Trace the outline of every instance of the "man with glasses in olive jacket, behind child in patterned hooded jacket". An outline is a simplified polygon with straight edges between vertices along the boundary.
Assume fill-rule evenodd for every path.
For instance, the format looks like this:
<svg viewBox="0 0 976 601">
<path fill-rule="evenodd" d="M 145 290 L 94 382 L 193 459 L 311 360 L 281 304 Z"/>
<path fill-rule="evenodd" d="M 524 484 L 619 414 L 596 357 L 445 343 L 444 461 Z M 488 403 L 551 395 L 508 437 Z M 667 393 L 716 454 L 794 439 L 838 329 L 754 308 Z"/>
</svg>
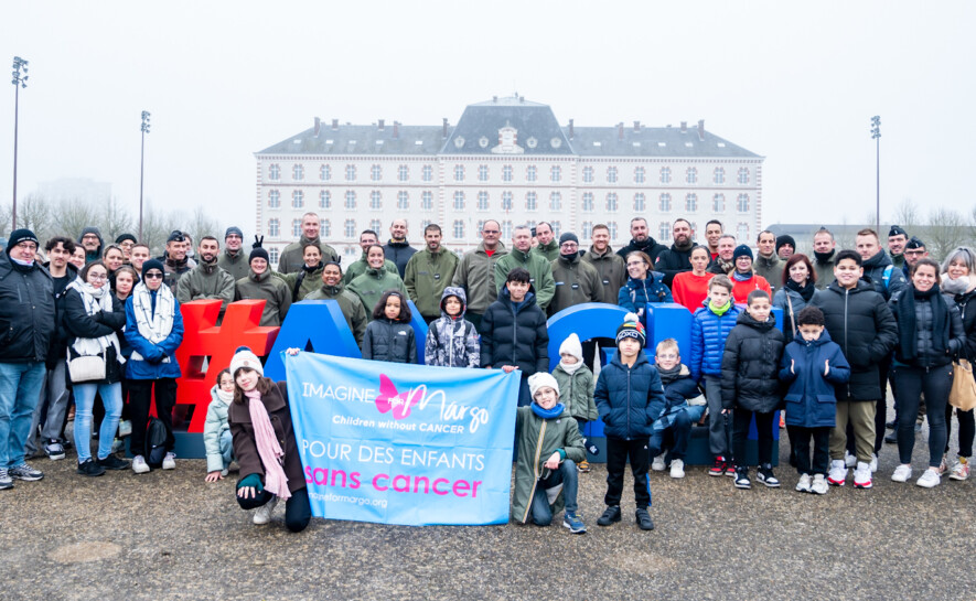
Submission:
<svg viewBox="0 0 976 601">
<path fill-rule="evenodd" d="M 460 286 L 468 296 L 468 312 L 464 319 L 474 324 L 481 333 L 481 318 L 489 305 L 498 298 L 495 288 L 495 264 L 508 254 L 505 245 L 498 242 L 502 226 L 494 219 L 484 222 L 481 228 L 481 244 L 461 257 L 454 270 L 452 286 Z"/>
</svg>

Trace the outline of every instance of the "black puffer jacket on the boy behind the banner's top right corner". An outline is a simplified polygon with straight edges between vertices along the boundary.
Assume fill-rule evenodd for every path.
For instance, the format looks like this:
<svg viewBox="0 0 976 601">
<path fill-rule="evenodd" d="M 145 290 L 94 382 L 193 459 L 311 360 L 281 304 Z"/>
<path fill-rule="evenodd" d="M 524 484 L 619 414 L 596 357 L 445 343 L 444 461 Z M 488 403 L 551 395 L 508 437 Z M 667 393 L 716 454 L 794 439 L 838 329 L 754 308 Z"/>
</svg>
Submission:
<svg viewBox="0 0 976 601">
<path fill-rule="evenodd" d="M 549 371 L 549 331 L 546 315 L 536 304 L 529 287 L 518 309 L 512 303 L 508 288 L 502 287 L 498 300 L 491 303 L 481 320 L 481 366 L 515 365 L 522 377 Z"/>
</svg>

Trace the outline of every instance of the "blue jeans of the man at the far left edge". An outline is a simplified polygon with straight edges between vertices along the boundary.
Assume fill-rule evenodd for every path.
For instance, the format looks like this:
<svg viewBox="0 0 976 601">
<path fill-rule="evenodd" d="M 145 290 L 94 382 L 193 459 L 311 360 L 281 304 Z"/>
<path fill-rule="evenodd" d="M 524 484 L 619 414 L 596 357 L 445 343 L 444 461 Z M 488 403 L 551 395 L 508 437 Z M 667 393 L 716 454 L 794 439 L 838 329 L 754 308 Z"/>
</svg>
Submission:
<svg viewBox="0 0 976 601">
<path fill-rule="evenodd" d="M 24 444 L 45 374 L 43 361 L 0 363 L 0 468 L 24 462 Z"/>
</svg>

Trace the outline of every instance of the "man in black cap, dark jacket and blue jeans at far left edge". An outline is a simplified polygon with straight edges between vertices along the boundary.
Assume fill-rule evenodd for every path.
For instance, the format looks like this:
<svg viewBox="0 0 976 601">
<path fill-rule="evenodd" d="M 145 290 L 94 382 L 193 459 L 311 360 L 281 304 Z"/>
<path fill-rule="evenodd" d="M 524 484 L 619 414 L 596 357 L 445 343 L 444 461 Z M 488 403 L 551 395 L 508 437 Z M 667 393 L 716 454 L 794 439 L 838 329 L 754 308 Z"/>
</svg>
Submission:
<svg viewBox="0 0 976 601">
<path fill-rule="evenodd" d="M 33 232 L 17 229 L 0 254 L 0 490 L 44 477 L 24 462 L 54 335 L 54 283 L 37 246 Z"/>
</svg>

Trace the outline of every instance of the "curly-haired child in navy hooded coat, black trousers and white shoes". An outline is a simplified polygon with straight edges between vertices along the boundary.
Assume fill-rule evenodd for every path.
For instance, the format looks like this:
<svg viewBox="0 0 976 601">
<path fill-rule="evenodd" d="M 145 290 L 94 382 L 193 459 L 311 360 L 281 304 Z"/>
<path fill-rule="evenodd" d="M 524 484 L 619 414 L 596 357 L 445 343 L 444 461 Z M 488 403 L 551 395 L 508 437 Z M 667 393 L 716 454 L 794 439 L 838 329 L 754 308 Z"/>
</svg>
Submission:
<svg viewBox="0 0 976 601">
<path fill-rule="evenodd" d="M 780 379 L 790 385 L 786 393 L 786 429 L 796 457 L 801 493 L 827 494 L 830 466 L 830 430 L 837 412 L 834 386 L 850 378 L 850 366 L 840 346 L 824 329 L 824 312 L 805 307 L 796 316 L 802 337 L 794 337 L 783 352 Z M 814 442 L 813 466 L 809 440 Z M 813 480 L 811 481 L 811 474 Z"/>
</svg>

